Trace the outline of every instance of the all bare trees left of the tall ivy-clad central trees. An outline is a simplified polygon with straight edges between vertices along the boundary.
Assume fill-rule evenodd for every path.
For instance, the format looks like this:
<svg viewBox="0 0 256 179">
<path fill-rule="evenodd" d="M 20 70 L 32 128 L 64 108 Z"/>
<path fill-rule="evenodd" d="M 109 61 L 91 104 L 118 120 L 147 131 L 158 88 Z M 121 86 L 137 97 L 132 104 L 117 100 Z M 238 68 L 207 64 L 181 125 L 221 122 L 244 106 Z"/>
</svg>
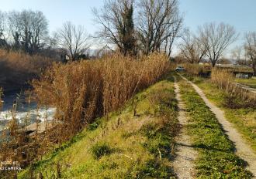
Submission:
<svg viewBox="0 0 256 179">
<path fill-rule="evenodd" d="M 85 56 L 88 37 L 85 29 L 64 22 L 54 35 L 49 35 L 48 21 L 43 12 L 22 10 L 0 12 L 0 48 L 29 55 L 67 55 L 75 60 Z"/>
</svg>

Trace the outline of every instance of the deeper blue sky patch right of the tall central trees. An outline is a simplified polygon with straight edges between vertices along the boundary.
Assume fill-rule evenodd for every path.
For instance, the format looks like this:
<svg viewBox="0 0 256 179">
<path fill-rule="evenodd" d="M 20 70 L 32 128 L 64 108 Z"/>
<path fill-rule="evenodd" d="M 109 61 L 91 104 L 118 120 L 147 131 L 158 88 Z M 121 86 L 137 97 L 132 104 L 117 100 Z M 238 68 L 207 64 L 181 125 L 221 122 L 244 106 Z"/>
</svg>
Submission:
<svg viewBox="0 0 256 179">
<path fill-rule="evenodd" d="M 234 25 L 240 33 L 256 31 L 255 0 L 181 0 L 185 25 L 196 32 L 205 22 L 225 22 Z"/>
</svg>

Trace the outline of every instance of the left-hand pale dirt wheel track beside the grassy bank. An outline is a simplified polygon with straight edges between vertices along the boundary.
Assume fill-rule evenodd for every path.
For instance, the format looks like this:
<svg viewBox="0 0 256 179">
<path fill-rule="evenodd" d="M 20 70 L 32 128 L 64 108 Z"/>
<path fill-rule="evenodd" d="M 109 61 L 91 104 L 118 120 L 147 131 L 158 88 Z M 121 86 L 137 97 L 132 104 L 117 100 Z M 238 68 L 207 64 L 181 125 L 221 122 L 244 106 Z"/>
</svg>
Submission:
<svg viewBox="0 0 256 179">
<path fill-rule="evenodd" d="M 178 178 L 194 178 L 195 170 L 194 170 L 194 160 L 197 156 L 197 152 L 193 149 L 190 143 L 190 137 L 185 133 L 185 125 L 188 123 L 187 117 L 185 116 L 185 104 L 182 101 L 181 94 L 179 92 L 178 83 L 176 83 L 175 79 L 175 94 L 176 99 L 178 100 L 178 121 L 182 126 L 181 133 L 179 133 L 176 138 L 177 147 L 176 147 L 176 157 L 174 160 L 174 169 Z"/>
</svg>

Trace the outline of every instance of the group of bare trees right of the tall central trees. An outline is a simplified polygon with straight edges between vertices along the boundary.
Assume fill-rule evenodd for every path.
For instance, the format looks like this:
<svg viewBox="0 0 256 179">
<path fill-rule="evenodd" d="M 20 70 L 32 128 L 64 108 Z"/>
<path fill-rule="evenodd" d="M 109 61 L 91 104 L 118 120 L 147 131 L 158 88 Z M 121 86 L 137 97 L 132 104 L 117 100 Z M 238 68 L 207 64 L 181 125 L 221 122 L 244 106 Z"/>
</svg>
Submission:
<svg viewBox="0 0 256 179">
<path fill-rule="evenodd" d="M 179 44 L 180 56 L 190 63 L 199 63 L 206 58 L 214 67 L 238 36 L 232 25 L 224 23 L 206 23 L 199 26 L 196 34 L 185 29 Z M 231 53 L 234 63 L 251 66 L 254 76 L 256 75 L 256 32 L 247 32 L 244 35 L 244 44 L 233 49 Z"/>
</svg>

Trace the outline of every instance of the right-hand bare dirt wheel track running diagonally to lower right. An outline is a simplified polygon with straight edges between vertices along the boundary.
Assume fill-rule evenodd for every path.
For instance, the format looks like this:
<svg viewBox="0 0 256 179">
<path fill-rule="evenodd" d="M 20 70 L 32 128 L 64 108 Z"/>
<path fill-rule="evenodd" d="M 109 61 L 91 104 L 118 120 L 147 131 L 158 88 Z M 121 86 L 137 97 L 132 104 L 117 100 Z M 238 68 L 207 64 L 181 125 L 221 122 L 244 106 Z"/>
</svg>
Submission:
<svg viewBox="0 0 256 179">
<path fill-rule="evenodd" d="M 182 76 L 182 79 L 185 79 L 185 77 Z M 246 143 L 244 143 L 244 139 L 241 137 L 240 133 L 238 133 L 237 130 L 233 127 L 232 123 L 227 121 L 223 111 L 220 110 L 220 108 L 214 105 L 213 103 L 209 102 L 205 94 L 202 92 L 202 90 L 198 86 L 190 82 L 188 79 L 185 79 L 185 80 L 194 87 L 195 91 L 199 93 L 199 96 L 202 97 L 202 100 L 204 100 L 206 105 L 216 115 L 216 118 L 219 120 L 219 123 L 223 126 L 223 129 L 226 131 L 227 136 L 234 143 L 236 147 L 237 156 L 247 161 L 248 163 L 247 170 L 251 171 L 251 173 L 254 174 L 254 177 L 255 177 L 256 176 L 256 154 L 254 154 L 253 150 L 251 150 L 251 147 Z"/>
</svg>

